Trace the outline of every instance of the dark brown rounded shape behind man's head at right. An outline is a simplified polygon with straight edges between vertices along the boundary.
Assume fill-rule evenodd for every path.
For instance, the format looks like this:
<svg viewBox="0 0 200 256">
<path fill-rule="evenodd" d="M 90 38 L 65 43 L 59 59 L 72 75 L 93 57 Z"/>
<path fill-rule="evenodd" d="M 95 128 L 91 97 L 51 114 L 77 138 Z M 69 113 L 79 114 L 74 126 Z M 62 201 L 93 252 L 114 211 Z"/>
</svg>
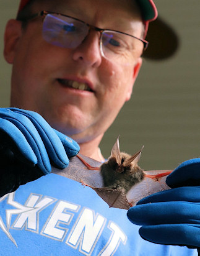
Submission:
<svg viewBox="0 0 200 256">
<path fill-rule="evenodd" d="M 172 57 L 180 45 L 175 29 L 158 17 L 150 22 L 146 40 L 149 46 L 143 57 L 151 60 L 163 60 Z"/>
</svg>

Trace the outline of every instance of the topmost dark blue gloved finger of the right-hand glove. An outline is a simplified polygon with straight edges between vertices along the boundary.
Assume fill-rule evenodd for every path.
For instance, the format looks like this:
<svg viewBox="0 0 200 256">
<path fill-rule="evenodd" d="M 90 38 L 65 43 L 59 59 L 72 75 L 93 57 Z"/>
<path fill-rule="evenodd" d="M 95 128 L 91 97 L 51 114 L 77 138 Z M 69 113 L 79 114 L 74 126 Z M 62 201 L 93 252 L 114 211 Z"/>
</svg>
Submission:
<svg viewBox="0 0 200 256">
<path fill-rule="evenodd" d="M 187 160 L 179 165 L 166 179 L 171 188 L 200 185 L 200 158 Z"/>
</svg>

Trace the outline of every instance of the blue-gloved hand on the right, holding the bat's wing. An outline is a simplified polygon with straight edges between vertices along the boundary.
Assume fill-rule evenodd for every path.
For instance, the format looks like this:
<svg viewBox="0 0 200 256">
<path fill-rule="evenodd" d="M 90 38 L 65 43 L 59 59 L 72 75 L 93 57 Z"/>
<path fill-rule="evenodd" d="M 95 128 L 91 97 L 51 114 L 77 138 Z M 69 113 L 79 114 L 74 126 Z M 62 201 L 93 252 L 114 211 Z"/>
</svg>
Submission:
<svg viewBox="0 0 200 256">
<path fill-rule="evenodd" d="M 130 208 L 142 238 L 156 244 L 200 247 L 200 158 L 183 162 L 168 177 L 172 190 L 152 194 Z"/>
</svg>

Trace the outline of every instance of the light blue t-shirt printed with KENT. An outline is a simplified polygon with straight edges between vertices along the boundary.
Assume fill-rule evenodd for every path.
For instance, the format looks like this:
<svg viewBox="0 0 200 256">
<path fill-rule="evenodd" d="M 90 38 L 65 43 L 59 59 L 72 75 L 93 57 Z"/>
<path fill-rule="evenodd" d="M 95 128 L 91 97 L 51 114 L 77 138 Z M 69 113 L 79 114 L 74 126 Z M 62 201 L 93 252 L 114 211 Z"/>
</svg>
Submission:
<svg viewBox="0 0 200 256">
<path fill-rule="evenodd" d="M 187 247 L 143 240 L 124 209 L 51 173 L 0 198 L 0 255 L 193 256 Z"/>
</svg>

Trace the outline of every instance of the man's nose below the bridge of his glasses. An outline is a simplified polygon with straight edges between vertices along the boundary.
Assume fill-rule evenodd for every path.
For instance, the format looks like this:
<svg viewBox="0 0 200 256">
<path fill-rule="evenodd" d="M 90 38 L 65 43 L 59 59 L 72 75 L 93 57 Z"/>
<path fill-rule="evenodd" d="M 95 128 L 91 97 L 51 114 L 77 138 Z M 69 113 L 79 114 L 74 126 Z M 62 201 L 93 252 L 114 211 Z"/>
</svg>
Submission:
<svg viewBox="0 0 200 256">
<path fill-rule="evenodd" d="M 90 30 L 82 43 L 74 49 L 73 59 L 87 66 L 99 66 L 102 63 L 99 41 L 100 33 L 95 30 Z"/>
</svg>

